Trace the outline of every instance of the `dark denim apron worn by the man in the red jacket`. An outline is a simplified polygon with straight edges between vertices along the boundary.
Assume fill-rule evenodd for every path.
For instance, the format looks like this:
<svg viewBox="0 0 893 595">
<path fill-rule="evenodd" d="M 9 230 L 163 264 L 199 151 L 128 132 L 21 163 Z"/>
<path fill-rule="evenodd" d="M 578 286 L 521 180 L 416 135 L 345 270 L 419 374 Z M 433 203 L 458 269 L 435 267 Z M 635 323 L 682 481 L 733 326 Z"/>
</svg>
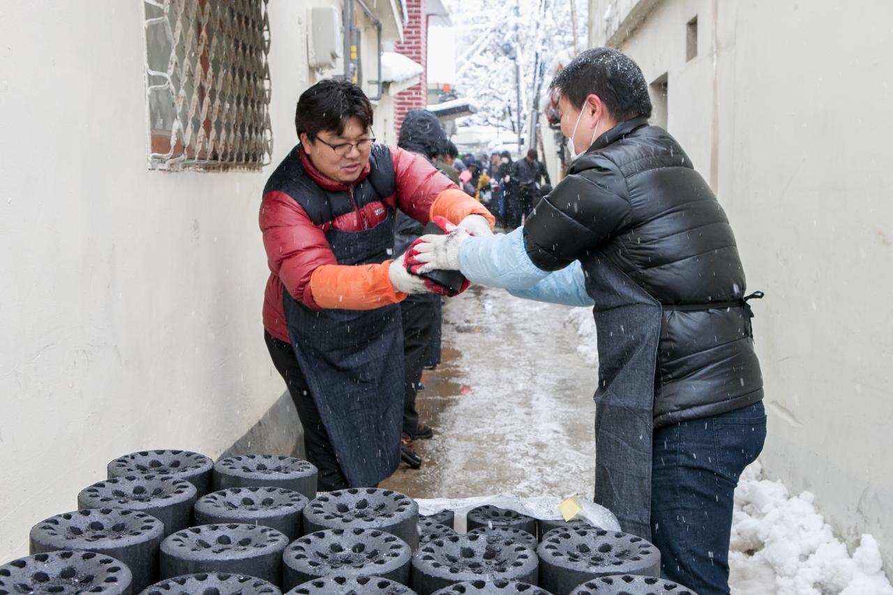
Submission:
<svg viewBox="0 0 893 595">
<path fill-rule="evenodd" d="M 370 230 L 326 234 L 338 264 L 379 264 L 394 246 L 394 211 Z M 403 331 L 396 304 L 313 311 L 283 291 L 288 336 L 351 487 L 371 487 L 400 463 Z"/>
</svg>

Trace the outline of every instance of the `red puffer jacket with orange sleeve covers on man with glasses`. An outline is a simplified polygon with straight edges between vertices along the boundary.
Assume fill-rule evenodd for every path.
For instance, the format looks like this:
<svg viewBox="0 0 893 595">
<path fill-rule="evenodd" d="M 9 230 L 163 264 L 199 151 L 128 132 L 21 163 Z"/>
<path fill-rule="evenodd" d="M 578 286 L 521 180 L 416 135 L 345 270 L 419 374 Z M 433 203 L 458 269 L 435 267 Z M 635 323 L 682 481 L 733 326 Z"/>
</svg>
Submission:
<svg viewBox="0 0 893 595">
<path fill-rule="evenodd" d="M 263 300 L 263 326 L 274 338 L 290 342 L 282 305 L 283 288 L 288 289 L 298 302 L 313 309 L 365 310 L 405 298 L 405 294 L 396 292 L 390 284 L 388 262 L 357 266 L 338 264 L 326 239 L 328 230 L 370 229 L 387 217 L 388 207 L 399 209 L 422 223 L 438 215 L 458 223 L 469 214 L 480 214 L 493 225 L 493 216 L 486 207 L 456 188 L 426 159 L 398 147 L 381 149 L 381 155 L 389 152 L 393 163 L 396 192 L 381 200 L 355 206 L 329 221 L 314 222 L 296 198 L 285 191 L 270 189 L 264 193 L 260 227 L 271 274 Z M 287 162 L 298 158 L 300 169 L 321 189 L 352 191 L 323 176 L 303 148 L 289 154 Z M 287 162 L 283 164 L 288 165 Z M 369 176 L 370 171 L 371 165 L 367 164 L 353 186 Z"/>
</svg>

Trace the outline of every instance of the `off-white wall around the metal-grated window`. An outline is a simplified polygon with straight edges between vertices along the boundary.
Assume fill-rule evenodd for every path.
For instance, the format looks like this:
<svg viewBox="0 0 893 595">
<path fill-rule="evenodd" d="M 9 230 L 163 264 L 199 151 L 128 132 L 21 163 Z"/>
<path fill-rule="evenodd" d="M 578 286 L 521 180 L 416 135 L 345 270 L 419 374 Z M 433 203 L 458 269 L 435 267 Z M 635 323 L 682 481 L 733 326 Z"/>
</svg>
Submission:
<svg viewBox="0 0 893 595">
<path fill-rule="evenodd" d="M 296 143 L 307 11 L 271 0 Z M 0 6 L 0 562 L 143 448 L 217 457 L 284 390 L 263 344 L 263 172 L 150 172 L 141 2 Z M 286 407 L 288 404 L 286 403 Z"/>
</svg>

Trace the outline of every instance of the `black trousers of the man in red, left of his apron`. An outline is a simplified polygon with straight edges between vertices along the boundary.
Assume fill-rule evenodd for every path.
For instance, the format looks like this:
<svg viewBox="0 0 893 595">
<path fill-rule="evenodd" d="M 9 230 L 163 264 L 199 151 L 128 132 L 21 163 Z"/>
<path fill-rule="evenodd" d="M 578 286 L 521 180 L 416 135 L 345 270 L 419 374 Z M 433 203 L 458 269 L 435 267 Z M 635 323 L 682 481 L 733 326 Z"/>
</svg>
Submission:
<svg viewBox="0 0 893 595">
<path fill-rule="evenodd" d="M 350 487 L 341 466 L 338 465 L 338 456 L 335 448 L 329 440 L 329 433 L 322 425 L 320 412 L 310 394 L 301 366 L 297 364 L 295 351 L 291 345 L 263 331 L 263 340 L 266 341 L 267 350 L 276 371 L 285 380 L 288 394 L 295 402 L 297 416 L 304 426 L 304 447 L 307 452 L 307 460 L 316 465 L 320 470 L 317 489 L 320 491 L 346 490 Z"/>
</svg>

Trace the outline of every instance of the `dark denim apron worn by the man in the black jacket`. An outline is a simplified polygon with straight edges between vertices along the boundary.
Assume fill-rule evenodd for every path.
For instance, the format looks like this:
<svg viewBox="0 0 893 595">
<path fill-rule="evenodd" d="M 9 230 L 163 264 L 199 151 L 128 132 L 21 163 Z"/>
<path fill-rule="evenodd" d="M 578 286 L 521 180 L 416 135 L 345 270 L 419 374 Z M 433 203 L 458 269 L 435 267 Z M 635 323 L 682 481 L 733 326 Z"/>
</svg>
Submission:
<svg viewBox="0 0 893 595">
<path fill-rule="evenodd" d="M 605 256 L 580 259 L 596 302 L 595 501 L 651 539 L 651 449 L 662 306 Z"/>
</svg>

